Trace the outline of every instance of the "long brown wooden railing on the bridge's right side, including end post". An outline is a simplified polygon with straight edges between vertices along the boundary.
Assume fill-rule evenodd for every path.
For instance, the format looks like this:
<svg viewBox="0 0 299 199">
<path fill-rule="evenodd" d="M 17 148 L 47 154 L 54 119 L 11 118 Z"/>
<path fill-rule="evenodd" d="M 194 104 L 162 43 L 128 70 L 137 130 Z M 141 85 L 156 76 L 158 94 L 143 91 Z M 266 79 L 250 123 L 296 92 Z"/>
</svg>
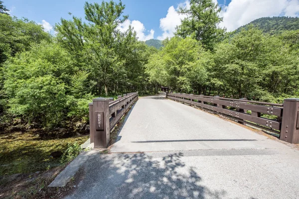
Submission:
<svg viewBox="0 0 299 199">
<path fill-rule="evenodd" d="M 223 114 L 240 123 L 276 132 L 281 140 L 299 143 L 299 99 L 285 99 L 280 104 L 174 93 L 166 93 L 166 98 Z"/>
</svg>

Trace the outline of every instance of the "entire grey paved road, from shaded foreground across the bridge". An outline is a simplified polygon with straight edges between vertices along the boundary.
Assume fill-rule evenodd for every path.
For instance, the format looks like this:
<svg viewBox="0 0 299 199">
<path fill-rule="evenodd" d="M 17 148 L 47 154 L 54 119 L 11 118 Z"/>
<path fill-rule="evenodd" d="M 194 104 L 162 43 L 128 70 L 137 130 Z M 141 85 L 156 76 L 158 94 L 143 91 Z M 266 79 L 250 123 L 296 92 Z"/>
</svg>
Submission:
<svg viewBox="0 0 299 199">
<path fill-rule="evenodd" d="M 298 149 L 163 97 L 139 99 L 83 172 L 67 199 L 299 198 Z"/>
</svg>

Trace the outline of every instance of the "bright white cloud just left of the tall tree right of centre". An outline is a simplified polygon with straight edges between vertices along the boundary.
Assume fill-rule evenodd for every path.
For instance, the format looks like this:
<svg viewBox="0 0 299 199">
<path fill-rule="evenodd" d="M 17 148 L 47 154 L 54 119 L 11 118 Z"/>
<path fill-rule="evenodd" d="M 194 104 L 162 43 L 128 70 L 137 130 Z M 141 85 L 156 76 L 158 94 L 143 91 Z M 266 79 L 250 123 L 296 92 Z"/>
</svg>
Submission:
<svg viewBox="0 0 299 199">
<path fill-rule="evenodd" d="M 177 10 L 179 7 L 190 7 L 189 1 L 178 4 L 175 9 L 174 6 L 170 6 L 167 10 L 166 17 L 160 18 L 160 29 L 163 31 L 162 35 L 158 36 L 157 39 L 164 40 L 166 37 L 173 37 L 175 27 L 180 25 L 181 19 L 185 18 L 186 15 L 178 14 Z"/>
</svg>

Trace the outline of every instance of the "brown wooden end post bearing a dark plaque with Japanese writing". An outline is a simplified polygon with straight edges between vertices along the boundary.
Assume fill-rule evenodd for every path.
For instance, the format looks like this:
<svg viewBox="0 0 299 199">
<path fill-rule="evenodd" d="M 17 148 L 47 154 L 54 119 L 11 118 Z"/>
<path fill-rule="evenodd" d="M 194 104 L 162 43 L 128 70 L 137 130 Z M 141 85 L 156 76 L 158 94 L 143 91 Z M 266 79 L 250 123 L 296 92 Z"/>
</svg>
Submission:
<svg viewBox="0 0 299 199">
<path fill-rule="evenodd" d="M 109 98 L 93 99 L 93 141 L 95 148 L 107 148 L 110 141 Z"/>
</svg>

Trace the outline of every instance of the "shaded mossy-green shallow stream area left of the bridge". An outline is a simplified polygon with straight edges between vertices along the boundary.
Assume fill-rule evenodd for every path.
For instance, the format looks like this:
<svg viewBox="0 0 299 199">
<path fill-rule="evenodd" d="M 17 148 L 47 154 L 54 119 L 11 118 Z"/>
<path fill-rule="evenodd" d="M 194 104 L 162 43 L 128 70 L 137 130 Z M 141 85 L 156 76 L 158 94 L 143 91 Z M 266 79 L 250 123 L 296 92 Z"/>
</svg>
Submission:
<svg viewBox="0 0 299 199">
<path fill-rule="evenodd" d="M 68 143 L 82 144 L 87 136 L 42 139 L 33 131 L 0 133 L 0 176 L 45 171 L 60 166 L 54 151 L 63 152 Z"/>
</svg>

